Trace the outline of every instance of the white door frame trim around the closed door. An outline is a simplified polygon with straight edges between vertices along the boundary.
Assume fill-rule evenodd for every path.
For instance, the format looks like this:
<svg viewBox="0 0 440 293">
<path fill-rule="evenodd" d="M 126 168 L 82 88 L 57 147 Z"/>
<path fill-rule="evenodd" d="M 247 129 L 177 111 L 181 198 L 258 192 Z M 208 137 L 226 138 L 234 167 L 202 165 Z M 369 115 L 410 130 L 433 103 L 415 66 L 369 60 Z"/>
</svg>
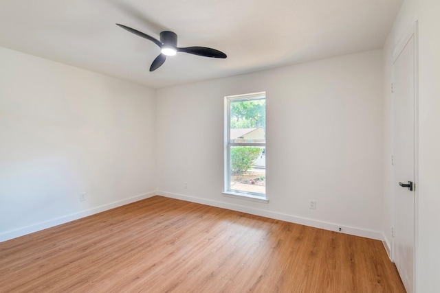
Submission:
<svg viewBox="0 0 440 293">
<path fill-rule="evenodd" d="M 414 191 L 414 252 L 413 252 L 413 274 L 412 274 L 412 284 L 413 291 L 417 290 L 417 279 L 418 279 L 418 235 L 419 235 L 419 22 L 415 21 L 412 26 L 406 30 L 406 34 L 402 36 L 399 42 L 395 45 L 393 50 L 393 55 L 391 58 L 391 82 L 395 81 L 395 69 L 394 64 L 397 58 L 400 56 L 401 52 L 406 47 L 406 44 L 411 37 L 414 37 L 414 181 L 415 181 L 415 191 Z M 394 152 L 394 107 L 395 107 L 395 97 L 393 93 L 391 94 L 391 147 L 392 153 Z M 394 170 L 393 170 L 394 174 Z M 392 176 L 392 186 L 393 192 L 393 218 L 392 226 L 395 226 L 395 189 L 397 186 L 394 182 L 394 176 Z M 394 236 L 391 237 L 391 260 L 395 260 L 395 241 Z"/>
</svg>

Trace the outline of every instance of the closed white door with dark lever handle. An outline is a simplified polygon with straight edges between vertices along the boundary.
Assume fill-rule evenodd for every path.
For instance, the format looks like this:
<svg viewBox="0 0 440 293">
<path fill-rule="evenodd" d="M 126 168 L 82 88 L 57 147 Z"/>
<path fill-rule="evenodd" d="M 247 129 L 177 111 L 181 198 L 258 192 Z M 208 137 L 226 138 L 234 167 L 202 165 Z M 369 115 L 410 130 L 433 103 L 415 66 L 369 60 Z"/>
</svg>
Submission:
<svg viewBox="0 0 440 293">
<path fill-rule="evenodd" d="M 393 63 L 393 259 L 409 293 L 415 262 L 415 35 L 406 40 Z"/>
</svg>

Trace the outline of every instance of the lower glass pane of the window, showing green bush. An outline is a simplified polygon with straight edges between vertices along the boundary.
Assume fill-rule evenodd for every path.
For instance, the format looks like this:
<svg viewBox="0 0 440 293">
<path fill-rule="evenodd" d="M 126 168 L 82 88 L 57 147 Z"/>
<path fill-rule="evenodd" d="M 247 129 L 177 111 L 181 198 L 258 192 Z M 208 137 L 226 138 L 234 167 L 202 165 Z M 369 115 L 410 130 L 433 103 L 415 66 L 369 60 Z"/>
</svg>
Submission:
<svg viewBox="0 0 440 293">
<path fill-rule="evenodd" d="M 252 194 L 266 193 L 265 148 L 230 147 L 230 189 Z"/>
</svg>

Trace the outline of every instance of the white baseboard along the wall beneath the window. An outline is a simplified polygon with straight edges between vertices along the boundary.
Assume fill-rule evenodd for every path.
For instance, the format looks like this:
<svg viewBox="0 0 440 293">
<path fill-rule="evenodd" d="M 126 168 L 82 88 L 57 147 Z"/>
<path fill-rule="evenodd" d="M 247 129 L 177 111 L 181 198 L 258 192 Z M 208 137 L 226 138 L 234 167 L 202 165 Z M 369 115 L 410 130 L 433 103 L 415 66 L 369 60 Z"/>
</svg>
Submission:
<svg viewBox="0 0 440 293">
<path fill-rule="evenodd" d="M 240 211 L 242 213 L 250 213 L 252 215 L 260 215 L 265 218 L 271 218 L 275 220 L 282 220 L 285 222 L 291 222 L 294 224 L 301 224 L 305 226 L 311 226 L 314 228 L 321 228 L 329 231 L 339 232 L 339 228 L 342 228 L 342 233 L 355 235 L 360 237 L 366 237 L 370 239 L 376 239 L 383 241 L 383 234 L 379 231 L 366 230 L 363 228 L 356 228 L 352 226 L 344 226 L 340 224 L 334 224 L 331 222 L 324 222 L 319 220 L 313 220 L 309 218 L 298 217 L 295 215 L 287 215 L 285 213 L 278 213 L 276 211 L 265 211 L 263 209 L 255 209 L 252 207 L 245 207 L 241 204 L 230 204 L 227 202 L 219 202 L 217 200 L 207 200 L 206 198 L 197 198 L 195 196 L 186 196 L 184 194 L 174 194 L 166 191 L 157 191 L 157 195 L 165 196 L 167 198 L 175 198 L 177 200 L 185 200 L 188 202 L 196 202 L 199 204 L 206 204 L 212 207 L 220 207 L 223 209 L 230 209 L 232 211 Z"/>
</svg>

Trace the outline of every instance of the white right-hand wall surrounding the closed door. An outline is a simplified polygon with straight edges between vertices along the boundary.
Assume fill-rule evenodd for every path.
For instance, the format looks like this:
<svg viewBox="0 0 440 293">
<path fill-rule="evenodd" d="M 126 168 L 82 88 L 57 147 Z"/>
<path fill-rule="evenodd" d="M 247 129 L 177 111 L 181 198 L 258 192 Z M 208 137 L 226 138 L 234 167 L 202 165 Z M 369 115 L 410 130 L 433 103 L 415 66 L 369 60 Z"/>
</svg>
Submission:
<svg viewBox="0 0 440 293">
<path fill-rule="evenodd" d="M 440 292 L 440 1 L 406 0 L 384 49 L 384 84 L 391 76 L 391 56 L 396 43 L 419 23 L 419 162 L 417 186 L 416 292 Z M 391 154 L 391 95 L 385 90 L 386 156 Z M 386 167 L 384 233 L 391 241 L 391 168 Z"/>
</svg>

